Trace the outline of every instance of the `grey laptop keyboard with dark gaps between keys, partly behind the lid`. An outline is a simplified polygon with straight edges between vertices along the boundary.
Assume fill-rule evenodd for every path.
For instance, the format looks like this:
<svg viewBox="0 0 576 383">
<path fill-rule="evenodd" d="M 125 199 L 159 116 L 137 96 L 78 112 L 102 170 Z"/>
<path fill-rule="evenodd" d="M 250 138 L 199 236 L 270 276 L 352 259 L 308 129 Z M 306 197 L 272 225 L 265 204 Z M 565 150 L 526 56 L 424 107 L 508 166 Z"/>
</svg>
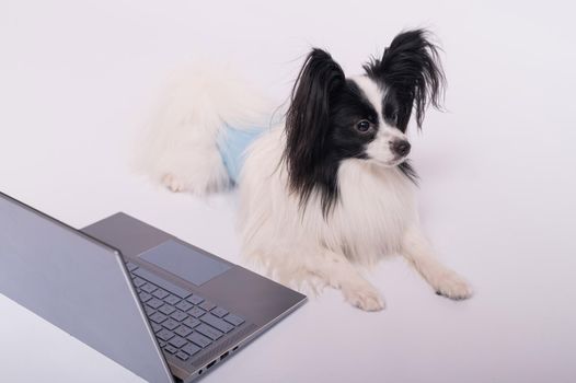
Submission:
<svg viewBox="0 0 576 383">
<path fill-rule="evenodd" d="M 130 262 L 126 266 L 165 353 L 187 361 L 244 323 L 239 315 Z"/>
</svg>

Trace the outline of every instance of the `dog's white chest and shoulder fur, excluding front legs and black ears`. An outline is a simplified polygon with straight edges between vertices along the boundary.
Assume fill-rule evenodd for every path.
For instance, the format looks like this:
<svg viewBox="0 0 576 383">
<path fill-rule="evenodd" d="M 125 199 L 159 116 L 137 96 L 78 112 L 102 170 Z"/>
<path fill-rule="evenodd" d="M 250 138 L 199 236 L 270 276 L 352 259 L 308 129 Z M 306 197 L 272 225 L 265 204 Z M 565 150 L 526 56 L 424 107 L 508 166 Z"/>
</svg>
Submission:
<svg viewBox="0 0 576 383">
<path fill-rule="evenodd" d="M 399 249 L 405 228 L 417 221 L 417 214 L 414 185 L 398 169 L 346 160 L 338 171 L 339 200 L 331 216 L 322 216 L 316 196 L 302 216 L 297 196 L 287 192 L 286 169 L 278 166 L 283 150 L 284 137 L 275 129 L 254 143 L 242 170 L 244 252 L 293 257 L 293 252 L 316 252 L 322 245 L 353 262 L 372 264 Z"/>
</svg>

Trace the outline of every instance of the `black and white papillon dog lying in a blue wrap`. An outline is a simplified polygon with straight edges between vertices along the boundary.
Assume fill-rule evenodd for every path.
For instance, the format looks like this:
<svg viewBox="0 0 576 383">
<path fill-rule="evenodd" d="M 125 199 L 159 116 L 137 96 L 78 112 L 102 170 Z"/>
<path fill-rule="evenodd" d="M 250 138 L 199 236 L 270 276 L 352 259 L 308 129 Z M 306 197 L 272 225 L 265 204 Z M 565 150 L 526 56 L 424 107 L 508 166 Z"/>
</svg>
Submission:
<svg viewBox="0 0 576 383">
<path fill-rule="evenodd" d="M 400 33 L 355 77 L 313 48 L 279 119 L 249 82 L 195 69 L 169 86 L 142 169 L 173 192 L 238 184 L 242 253 L 283 283 L 330 286 L 379 311 L 384 301 L 358 266 L 401 254 L 438 294 L 466 299 L 469 283 L 435 258 L 419 228 L 407 158 L 411 117 L 421 128 L 443 89 L 426 30 Z"/>
</svg>

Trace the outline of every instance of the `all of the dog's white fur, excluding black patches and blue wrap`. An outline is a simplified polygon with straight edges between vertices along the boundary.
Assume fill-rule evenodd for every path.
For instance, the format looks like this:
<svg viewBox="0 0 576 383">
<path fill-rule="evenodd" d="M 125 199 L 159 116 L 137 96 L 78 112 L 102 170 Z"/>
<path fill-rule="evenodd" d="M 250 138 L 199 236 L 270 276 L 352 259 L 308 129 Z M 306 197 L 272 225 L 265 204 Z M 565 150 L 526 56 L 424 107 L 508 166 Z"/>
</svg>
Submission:
<svg viewBox="0 0 576 383">
<path fill-rule="evenodd" d="M 224 124 L 263 126 L 258 125 L 262 116 L 272 109 L 265 111 L 266 103 L 251 86 L 221 72 L 195 71 L 185 79 L 174 85 L 152 125 L 143 163 L 172 190 L 201 195 L 228 184 L 216 146 L 219 130 Z M 372 103 L 380 104 L 376 84 L 367 78 L 355 81 L 375 98 Z M 389 127 L 385 135 L 404 136 Z M 281 161 L 285 146 L 279 124 L 247 151 L 240 176 L 239 231 L 244 256 L 264 265 L 280 282 L 331 286 L 341 289 L 349 303 L 368 311 L 381 310 L 384 303 L 358 266 L 373 265 L 387 254 L 405 256 L 439 293 L 454 299 L 471 295 L 468 283 L 434 257 L 419 230 L 414 185 L 398 167 L 345 160 L 338 173 L 339 201 L 325 220 L 315 195 L 302 214 L 298 197 L 288 192 Z"/>
</svg>

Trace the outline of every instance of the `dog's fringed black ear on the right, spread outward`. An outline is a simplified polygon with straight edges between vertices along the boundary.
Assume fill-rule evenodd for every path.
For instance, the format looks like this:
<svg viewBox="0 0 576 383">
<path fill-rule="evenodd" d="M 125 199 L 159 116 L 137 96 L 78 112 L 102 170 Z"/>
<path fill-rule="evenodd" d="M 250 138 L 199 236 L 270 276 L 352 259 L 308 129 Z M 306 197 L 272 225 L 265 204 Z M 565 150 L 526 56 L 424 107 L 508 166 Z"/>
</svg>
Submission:
<svg viewBox="0 0 576 383">
<path fill-rule="evenodd" d="M 441 108 L 446 78 L 438 57 L 438 47 L 430 43 L 425 30 L 399 34 L 381 59 L 364 66 L 367 74 L 384 83 L 400 106 L 398 126 L 405 130 L 416 109 L 416 123 L 422 127 L 428 103 Z"/>
</svg>

